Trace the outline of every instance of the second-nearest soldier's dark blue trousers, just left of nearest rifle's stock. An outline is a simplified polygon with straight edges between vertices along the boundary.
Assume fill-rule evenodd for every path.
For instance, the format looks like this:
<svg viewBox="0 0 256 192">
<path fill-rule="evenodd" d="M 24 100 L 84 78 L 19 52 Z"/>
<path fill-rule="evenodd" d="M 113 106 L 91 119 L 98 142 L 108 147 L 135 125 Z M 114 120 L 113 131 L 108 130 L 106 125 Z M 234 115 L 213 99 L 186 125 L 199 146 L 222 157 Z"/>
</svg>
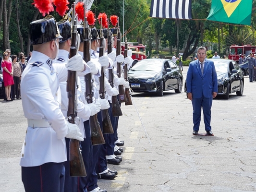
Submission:
<svg viewBox="0 0 256 192">
<path fill-rule="evenodd" d="M 67 146 L 67 161 L 64 162 L 65 166 L 65 183 L 64 192 L 76 192 L 77 191 L 77 180 L 78 177 L 70 177 L 70 166 L 69 166 L 69 142 L 70 139 L 65 138 Z"/>
</svg>

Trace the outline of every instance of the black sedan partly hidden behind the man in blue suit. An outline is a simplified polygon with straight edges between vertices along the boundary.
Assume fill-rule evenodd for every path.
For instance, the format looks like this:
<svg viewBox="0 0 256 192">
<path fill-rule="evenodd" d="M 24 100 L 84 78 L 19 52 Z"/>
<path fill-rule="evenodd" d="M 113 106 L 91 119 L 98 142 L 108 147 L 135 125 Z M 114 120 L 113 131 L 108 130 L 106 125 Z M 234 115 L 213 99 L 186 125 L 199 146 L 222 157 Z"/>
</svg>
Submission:
<svg viewBox="0 0 256 192">
<path fill-rule="evenodd" d="M 229 99 L 229 94 L 236 93 L 242 96 L 244 93 L 244 75 L 238 64 L 233 60 L 208 59 L 214 62 L 218 77 L 218 95 L 223 99 Z M 187 90 L 185 82 L 185 92 Z"/>
</svg>

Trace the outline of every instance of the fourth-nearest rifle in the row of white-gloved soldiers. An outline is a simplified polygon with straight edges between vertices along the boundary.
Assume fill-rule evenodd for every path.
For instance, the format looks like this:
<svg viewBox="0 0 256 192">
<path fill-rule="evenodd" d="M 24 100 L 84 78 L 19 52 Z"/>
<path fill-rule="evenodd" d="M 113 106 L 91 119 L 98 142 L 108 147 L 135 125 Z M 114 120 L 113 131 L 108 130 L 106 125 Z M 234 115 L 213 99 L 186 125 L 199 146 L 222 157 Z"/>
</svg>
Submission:
<svg viewBox="0 0 256 192">
<path fill-rule="evenodd" d="M 111 31 L 108 29 L 108 54 L 112 52 L 112 36 Z M 113 69 L 109 69 L 109 83 L 114 87 L 114 73 Z M 117 96 L 112 96 L 112 115 L 113 117 L 122 116 L 122 110 L 117 100 Z"/>
</svg>

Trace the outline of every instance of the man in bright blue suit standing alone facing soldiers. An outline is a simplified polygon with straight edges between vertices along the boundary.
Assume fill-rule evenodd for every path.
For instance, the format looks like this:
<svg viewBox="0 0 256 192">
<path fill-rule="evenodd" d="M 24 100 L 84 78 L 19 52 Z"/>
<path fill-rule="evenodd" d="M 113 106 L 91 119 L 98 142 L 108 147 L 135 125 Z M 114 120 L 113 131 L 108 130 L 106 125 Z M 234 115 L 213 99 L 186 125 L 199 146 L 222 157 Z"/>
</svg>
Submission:
<svg viewBox="0 0 256 192">
<path fill-rule="evenodd" d="M 201 121 L 201 110 L 203 108 L 205 130 L 208 135 L 211 131 L 211 106 L 212 98 L 217 96 L 218 80 L 214 63 L 206 60 L 206 48 L 197 50 L 198 60 L 189 64 L 187 72 L 187 95 L 193 106 L 193 135 L 199 131 Z"/>
</svg>

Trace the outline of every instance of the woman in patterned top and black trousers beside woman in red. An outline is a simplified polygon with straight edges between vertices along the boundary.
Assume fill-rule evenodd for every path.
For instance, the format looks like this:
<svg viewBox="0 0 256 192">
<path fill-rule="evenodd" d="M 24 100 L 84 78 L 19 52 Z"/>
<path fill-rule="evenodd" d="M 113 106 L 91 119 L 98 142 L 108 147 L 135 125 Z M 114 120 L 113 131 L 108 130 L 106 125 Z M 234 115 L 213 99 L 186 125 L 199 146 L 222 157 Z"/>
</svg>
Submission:
<svg viewBox="0 0 256 192">
<path fill-rule="evenodd" d="M 20 99 L 20 90 L 18 90 L 18 86 L 21 80 L 21 67 L 20 64 L 17 62 L 17 55 L 12 55 L 12 69 L 13 69 L 13 81 L 14 84 L 12 85 L 12 100 Z"/>
</svg>

